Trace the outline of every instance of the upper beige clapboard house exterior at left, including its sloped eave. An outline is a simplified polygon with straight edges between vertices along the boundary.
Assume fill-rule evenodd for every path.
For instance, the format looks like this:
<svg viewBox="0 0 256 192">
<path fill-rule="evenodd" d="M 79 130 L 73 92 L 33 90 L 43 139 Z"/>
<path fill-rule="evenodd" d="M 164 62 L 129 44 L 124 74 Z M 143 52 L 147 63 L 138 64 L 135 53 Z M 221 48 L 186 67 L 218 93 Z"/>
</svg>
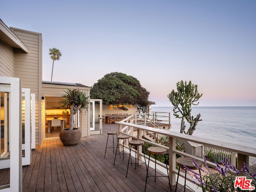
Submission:
<svg viewBox="0 0 256 192">
<path fill-rule="evenodd" d="M 35 94 L 36 144 L 41 144 L 42 34 L 8 28 L 2 20 L 0 33 L 0 76 L 21 78 L 22 88 Z"/>
</svg>

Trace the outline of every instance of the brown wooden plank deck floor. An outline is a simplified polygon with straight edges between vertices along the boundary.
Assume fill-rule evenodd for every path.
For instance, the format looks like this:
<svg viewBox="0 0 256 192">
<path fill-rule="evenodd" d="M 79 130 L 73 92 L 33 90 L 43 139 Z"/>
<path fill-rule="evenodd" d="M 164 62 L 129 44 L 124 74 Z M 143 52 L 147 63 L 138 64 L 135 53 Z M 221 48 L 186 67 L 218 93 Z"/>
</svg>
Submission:
<svg viewBox="0 0 256 192">
<path fill-rule="evenodd" d="M 24 192 L 139 192 L 144 191 L 145 165 L 129 166 L 124 160 L 107 149 L 104 158 L 107 134 L 118 130 L 116 124 L 105 124 L 103 134 L 83 137 L 76 146 L 64 146 L 58 140 L 44 141 L 32 151 L 32 163 L 23 167 Z M 109 140 L 111 144 L 112 140 Z M 116 140 L 115 140 L 116 144 Z M 8 174 L 7 174 L 8 175 Z M 9 176 L 10 177 L 10 176 Z M 180 187 L 180 186 L 179 186 Z M 172 191 L 175 186 L 172 186 Z M 148 178 L 147 192 L 170 191 L 168 178 Z M 186 189 L 190 192 L 190 190 Z"/>
</svg>

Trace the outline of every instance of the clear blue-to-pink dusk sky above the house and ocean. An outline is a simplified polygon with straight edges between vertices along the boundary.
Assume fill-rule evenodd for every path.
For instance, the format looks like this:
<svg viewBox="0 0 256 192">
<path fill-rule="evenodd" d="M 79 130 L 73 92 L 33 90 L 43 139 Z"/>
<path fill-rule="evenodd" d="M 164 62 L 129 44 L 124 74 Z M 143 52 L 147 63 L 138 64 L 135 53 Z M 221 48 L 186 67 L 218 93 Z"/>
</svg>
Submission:
<svg viewBox="0 0 256 192">
<path fill-rule="evenodd" d="M 42 33 L 43 80 L 55 47 L 56 82 L 93 86 L 122 72 L 155 106 L 172 106 L 176 83 L 191 80 L 198 106 L 256 106 L 255 0 L 1 0 L 0 19 Z"/>
</svg>

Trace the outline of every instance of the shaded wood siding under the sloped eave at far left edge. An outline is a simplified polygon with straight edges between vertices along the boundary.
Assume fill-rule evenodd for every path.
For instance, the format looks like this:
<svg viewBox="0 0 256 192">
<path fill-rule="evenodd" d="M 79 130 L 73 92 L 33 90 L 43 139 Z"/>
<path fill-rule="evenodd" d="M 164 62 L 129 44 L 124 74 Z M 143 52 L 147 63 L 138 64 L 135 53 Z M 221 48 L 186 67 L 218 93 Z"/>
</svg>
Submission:
<svg viewBox="0 0 256 192">
<path fill-rule="evenodd" d="M 0 76 L 14 77 L 14 51 L 0 40 Z"/>
</svg>

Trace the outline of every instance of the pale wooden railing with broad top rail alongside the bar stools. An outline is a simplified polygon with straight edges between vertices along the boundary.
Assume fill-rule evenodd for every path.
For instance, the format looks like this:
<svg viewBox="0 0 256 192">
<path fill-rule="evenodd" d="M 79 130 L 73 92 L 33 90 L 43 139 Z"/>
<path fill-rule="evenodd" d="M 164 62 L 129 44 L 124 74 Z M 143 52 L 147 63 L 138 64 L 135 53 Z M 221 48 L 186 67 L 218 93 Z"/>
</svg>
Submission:
<svg viewBox="0 0 256 192">
<path fill-rule="evenodd" d="M 238 168 L 238 170 L 242 169 L 243 162 L 245 162 L 246 165 L 249 167 L 249 156 L 256 157 L 256 148 L 242 146 L 242 145 L 234 145 L 234 144 L 230 144 L 228 142 L 220 142 L 220 141 L 216 141 L 216 140 L 212 140 L 212 139 L 208 139 L 208 138 L 200 138 L 197 136 L 180 134 L 178 132 L 173 132 L 171 130 L 162 130 L 162 129 L 158 129 L 158 128 L 152 128 L 152 127 L 147 127 L 147 126 L 143 126 L 143 125 L 138 125 L 138 124 L 136 124 L 137 117 L 138 116 L 135 114 L 135 115 L 129 116 L 128 118 L 126 118 L 120 122 L 116 122 L 117 124 L 119 124 L 118 132 L 121 134 L 127 134 L 131 138 L 143 140 L 144 142 L 152 144 L 154 146 L 161 146 L 161 147 L 166 148 L 169 151 L 169 172 L 170 172 L 171 185 L 175 185 L 175 177 L 176 177 L 176 174 L 178 174 L 178 170 L 176 170 L 176 154 L 180 154 L 181 156 L 191 157 L 195 160 L 200 160 L 202 162 L 204 161 L 200 157 L 196 157 L 196 156 L 186 154 L 184 152 L 180 152 L 180 151 L 176 150 L 176 142 L 175 142 L 176 138 L 195 142 L 195 143 L 202 144 L 204 146 L 209 146 L 212 148 L 218 148 L 218 149 L 224 150 L 224 151 L 230 151 L 230 152 L 237 153 L 237 168 Z M 136 134 L 133 134 L 134 129 L 136 129 Z M 144 135 L 144 132 L 146 132 L 146 131 L 150 131 L 150 132 L 153 132 L 156 134 L 168 136 L 169 142 L 170 142 L 169 147 L 166 147 L 161 144 L 157 144 L 155 142 L 151 142 L 151 141 L 143 139 L 142 136 Z M 136 135 L 136 136 L 134 136 L 134 135 Z M 120 143 L 120 147 L 122 147 L 121 143 Z M 126 146 L 126 148 L 128 148 L 128 146 Z M 142 160 L 143 154 L 142 154 L 141 147 L 138 147 L 137 155 L 138 155 L 138 158 L 140 158 Z M 212 162 L 207 162 L 207 163 L 213 167 L 216 167 L 216 165 Z M 181 176 L 184 177 L 184 174 L 181 174 Z M 187 179 L 190 181 L 194 180 L 190 176 L 187 176 Z"/>
</svg>

